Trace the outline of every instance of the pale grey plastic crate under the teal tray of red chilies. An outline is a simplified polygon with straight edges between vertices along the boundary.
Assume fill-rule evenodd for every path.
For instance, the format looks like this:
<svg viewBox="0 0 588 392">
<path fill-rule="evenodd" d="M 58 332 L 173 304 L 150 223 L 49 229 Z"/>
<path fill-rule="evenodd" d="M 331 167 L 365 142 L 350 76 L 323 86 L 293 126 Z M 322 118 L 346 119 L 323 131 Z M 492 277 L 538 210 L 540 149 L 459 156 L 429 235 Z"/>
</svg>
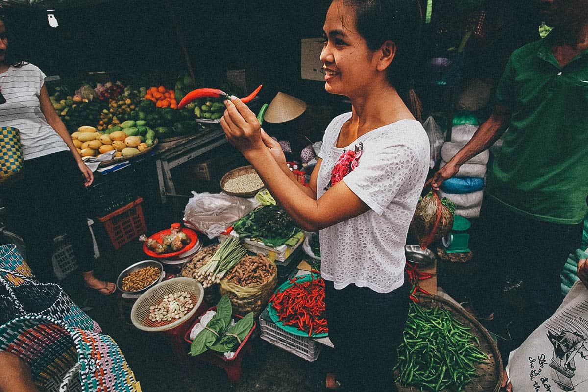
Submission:
<svg viewBox="0 0 588 392">
<path fill-rule="evenodd" d="M 258 320 L 261 329 L 259 337 L 261 339 L 307 361 L 315 361 L 319 357 L 323 345 L 318 341 L 314 341 L 309 337 L 293 335 L 276 326 L 272 321 L 263 320 L 261 317 Z"/>
</svg>

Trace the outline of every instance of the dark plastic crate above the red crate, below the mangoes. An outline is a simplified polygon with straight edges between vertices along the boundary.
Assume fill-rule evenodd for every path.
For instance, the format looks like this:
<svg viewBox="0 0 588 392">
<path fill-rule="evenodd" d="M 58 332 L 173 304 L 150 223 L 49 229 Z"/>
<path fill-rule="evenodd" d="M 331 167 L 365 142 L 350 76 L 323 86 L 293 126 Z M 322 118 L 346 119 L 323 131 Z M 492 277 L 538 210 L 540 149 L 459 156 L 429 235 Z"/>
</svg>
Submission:
<svg viewBox="0 0 588 392">
<path fill-rule="evenodd" d="M 92 212 L 97 216 L 105 216 L 136 199 L 132 180 L 108 180 L 92 186 L 89 192 Z"/>
</svg>

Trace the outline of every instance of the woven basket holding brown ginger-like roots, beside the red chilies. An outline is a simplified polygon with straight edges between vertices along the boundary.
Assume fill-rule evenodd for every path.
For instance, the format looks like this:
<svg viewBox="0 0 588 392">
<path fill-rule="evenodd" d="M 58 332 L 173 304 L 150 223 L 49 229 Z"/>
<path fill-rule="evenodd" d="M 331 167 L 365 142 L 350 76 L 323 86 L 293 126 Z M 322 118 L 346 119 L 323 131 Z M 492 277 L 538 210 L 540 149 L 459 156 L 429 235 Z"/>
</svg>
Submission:
<svg viewBox="0 0 588 392">
<path fill-rule="evenodd" d="M 252 311 L 253 315 L 258 317 L 263 308 L 268 304 L 269 297 L 272 296 L 273 290 L 276 288 L 278 267 L 276 267 L 276 264 L 272 260 L 263 256 L 258 257 L 261 257 L 266 264 L 270 264 L 270 268 L 273 270 L 273 275 L 268 282 L 260 286 L 243 287 L 229 282 L 226 279 L 220 280 L 220 295 L 224 296 L 227 294 L 230 303 L 233 305 L 233 313 L 240 314 L 241 316 L 245 316 L 245 314 Z"/>
</svg>

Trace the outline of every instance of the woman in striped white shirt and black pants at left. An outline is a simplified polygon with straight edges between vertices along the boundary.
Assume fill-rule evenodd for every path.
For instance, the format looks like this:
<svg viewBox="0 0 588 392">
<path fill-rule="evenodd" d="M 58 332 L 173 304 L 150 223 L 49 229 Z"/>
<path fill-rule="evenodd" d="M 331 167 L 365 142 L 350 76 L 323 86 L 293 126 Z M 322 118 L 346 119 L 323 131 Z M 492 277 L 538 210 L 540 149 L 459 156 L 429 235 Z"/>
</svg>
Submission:
<svg viewBox="0 0 588 392">
<path fill-rule="evenodd" d="M 24 167 L 0 186 L 7 220 L 26 244 L 29 264 L 41 281 L 55 279 L 52 239 L 66 232 L 82 270 L 85 285 L 112 294 L 112 282 L 93 273 L 92 237 L 79 206 L 85 205 L 84 186 L 93 181 L 49 100 L 45 74 L 35 65 L 15 59 L 8 48 L 6 26 L 0 19 L 0 126 L 19 130 Z"/>
</svg>

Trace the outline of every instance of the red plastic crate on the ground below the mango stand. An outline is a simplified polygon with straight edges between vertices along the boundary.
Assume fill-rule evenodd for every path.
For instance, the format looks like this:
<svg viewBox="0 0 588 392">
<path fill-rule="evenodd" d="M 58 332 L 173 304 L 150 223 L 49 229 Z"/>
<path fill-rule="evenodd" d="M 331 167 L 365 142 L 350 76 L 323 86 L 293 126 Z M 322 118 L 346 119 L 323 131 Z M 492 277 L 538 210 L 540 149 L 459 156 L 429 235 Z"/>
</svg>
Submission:
<svg viewBox="0 0 588 392">
<path fill-rule="evenodd" d="M 119 208 L 106 216 L 98 217 L 104 225 L 104 229 L 111 239 L 114 249 L 119 249 L 124 244 L 145 234 L 145 218 L 139 197 L 134 202 Z"/>
</svg>

